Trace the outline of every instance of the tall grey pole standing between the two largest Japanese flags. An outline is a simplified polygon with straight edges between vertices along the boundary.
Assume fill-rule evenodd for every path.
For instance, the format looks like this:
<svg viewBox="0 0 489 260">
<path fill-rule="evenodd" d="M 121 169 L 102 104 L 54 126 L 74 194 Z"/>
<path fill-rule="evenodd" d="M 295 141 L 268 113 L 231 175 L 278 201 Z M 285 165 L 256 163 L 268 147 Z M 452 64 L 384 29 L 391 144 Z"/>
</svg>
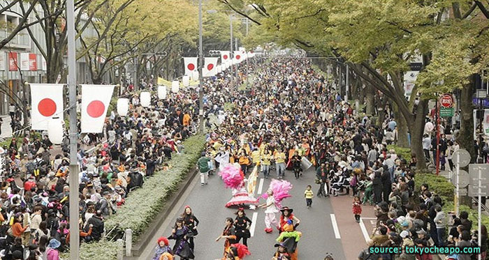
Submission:
<svg viewBox="0 0 489 260">
<path fill-rule="evenodd" d="M 68 37 L 68 96 L 70 100 L 70 259 L 80 259 L 80 215 L 78 202 L 78 127 L 76 117 L 76 49 L 75 49 L 75 0 L 66 1 L 66 29 Z"/>
</svg>

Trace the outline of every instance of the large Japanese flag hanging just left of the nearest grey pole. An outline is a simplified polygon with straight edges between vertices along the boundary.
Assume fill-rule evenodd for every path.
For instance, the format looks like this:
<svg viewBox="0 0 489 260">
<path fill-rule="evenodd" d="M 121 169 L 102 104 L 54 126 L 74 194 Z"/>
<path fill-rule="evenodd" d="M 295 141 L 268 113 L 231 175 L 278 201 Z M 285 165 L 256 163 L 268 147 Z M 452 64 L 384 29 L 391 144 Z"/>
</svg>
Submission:
<svg viewBox="0 0 489 260">
<path fill-rule="evenodd" d="M 53 116 L 63 120 L 64 84 L 29 84 L 31 86 L 31 129 L 48 130 Z"/>
</svg>

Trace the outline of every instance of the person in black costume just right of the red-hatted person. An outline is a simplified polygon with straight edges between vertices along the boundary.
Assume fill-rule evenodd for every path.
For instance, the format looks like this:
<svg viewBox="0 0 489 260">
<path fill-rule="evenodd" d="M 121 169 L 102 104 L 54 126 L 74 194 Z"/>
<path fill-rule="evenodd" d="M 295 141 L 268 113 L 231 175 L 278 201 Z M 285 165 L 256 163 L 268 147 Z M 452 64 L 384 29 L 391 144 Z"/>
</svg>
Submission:
<svg viewBox="0 0 489 260">
<path fill-rule="evenodd" d="M 185 227 L 182 217 L 178 217 L 173 227 L 171 236 L 168 239 L 174 239 L 175 245 L 173 246 L 173 252 L 180 257 L 181 260 L 194 259 L 194 250 L 190 248 L 189 237 L 194 236 L 188 227 Z"/>
</svg>

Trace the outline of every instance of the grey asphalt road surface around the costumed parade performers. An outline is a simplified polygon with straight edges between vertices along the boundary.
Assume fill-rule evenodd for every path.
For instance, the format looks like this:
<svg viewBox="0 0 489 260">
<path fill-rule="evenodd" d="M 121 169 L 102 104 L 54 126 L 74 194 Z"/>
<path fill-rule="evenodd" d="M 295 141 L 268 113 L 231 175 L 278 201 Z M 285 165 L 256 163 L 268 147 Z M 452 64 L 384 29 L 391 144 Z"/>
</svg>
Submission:
<svg viewBox="0 0 489 260">
<path fill-rule="evenodd" d="M 274 175 L 275 173 L 271 173 L 271 176 Z M 298 243 L 298 259 L 324 259 L 327 253 L 333 254 L 335 259 L 346 259 L 342 243 L 335 236 L 331 218 L 333 208 L 330 199 L 314 197 L 312 208 L 307 209 L 305 205 L 304 190 L 306 186 L 312 185 L 314 194 L 318 189 L 318 185 L 314 184 L 314 169 L 306 171 L 298 180 L 295 180 L 292 171 L 286 171 L 285 179 L 293 184 L 293 189 L 291 190 L 292 197 L 284 199 L 282 204 L 293 208 L 294 214 L 301 221 L 298 227 L 298 230 L 302 231 L 302 238 Z M 258 178 L 257 192 L 260 192 L 260 186 L 261 191 L 266 192 L 270 180 L 270 178 Z M 262 182 L 263 185 L 260 185 L 259 183 Z M 221 235 L 226 217 L 235 218 L 234 213 L 236 212 L 236 208 L 224 206 L 229 199 L 231 199 L 231 190 L 224 188 L 224 183 L 219 176 L 211 176 L 209 184 L 203 187 L 200 186 L 199 178 L 196 176 L 189 189 L 178 201 L 177 206 L 168 215 L 168 219 L 159 227 L 156 235 L 152 238 L 152 243 L 147 245 L 138 259 L 152 259 L 156 240 L 159 236 L 170 236 L 176 218 L 183 213 L 184 206 L 187 205 L 191 206 L 200 221 L 198 236 L 195 239 L 195 259 L 221 259 L 224 251 L 224 240 L 216 242 L 215 239 Z M 261 201 L 263 202 L 263 200 Z M 275 229 L 272 234 L 265 234 L 263 209 L 251 211 L 246 208 L 245 211 L 251 220 L 254 220 L 254 215 L 256 215 L 256 222 L 251 227 L 251 234 L 254 236 L 248 240 L 251 256 L 247 259 L 271 259 L 276 250 L 274 245 L 275 239 L 278 237 L 277 230 Z M 174 243 L 174 240 L 170 240 L 170 246 L 173 247 Z"/>
</svg>

